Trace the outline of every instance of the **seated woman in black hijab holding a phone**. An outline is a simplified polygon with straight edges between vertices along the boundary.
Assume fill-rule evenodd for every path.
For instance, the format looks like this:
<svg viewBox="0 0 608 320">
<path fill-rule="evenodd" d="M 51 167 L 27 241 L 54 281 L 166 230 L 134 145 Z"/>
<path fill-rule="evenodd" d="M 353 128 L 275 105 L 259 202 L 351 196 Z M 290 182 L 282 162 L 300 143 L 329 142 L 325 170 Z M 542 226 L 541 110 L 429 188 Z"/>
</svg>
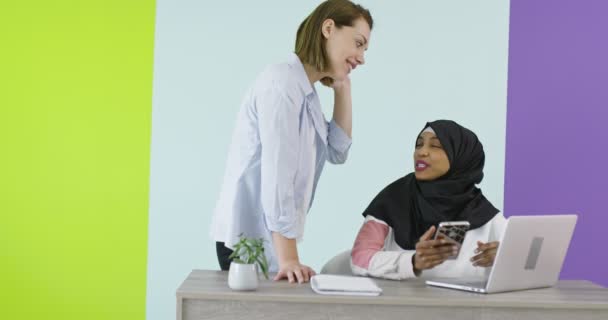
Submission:
<svg viewBox="0 0 608 320">
<path fill-rule="evenodd" d="M 476 187 L 485 154 L 454 121 L 427 123 L 416 139 L 415 172 L 388 185 L 363 212 L 351 251 L 356 275 L 387 279 L 480 277 L 494 262 L 506 220 Z M 444 221 L 468 221 L 462 247 L 434 240 Z M 460 249 L 457 259 L 448 259 Z"/>
</svg>

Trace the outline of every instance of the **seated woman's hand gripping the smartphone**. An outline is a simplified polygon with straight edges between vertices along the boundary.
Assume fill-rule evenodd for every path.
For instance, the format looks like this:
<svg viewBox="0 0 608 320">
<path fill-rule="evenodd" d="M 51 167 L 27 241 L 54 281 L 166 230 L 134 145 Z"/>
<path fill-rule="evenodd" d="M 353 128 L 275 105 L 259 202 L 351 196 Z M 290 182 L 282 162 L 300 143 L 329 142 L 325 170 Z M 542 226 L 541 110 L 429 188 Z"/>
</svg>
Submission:
<svg viewBox="0 0 608 320">
<path fill-rule="evenodd" d="M 447 258 L 458 252 L 458 247 L 445 239 L 432 240 L 434 233 L 435 226 L 432 226 L 416 243 L 416 253 L 412 261 L 416 274 L 442 264 Z"/>
</svg>

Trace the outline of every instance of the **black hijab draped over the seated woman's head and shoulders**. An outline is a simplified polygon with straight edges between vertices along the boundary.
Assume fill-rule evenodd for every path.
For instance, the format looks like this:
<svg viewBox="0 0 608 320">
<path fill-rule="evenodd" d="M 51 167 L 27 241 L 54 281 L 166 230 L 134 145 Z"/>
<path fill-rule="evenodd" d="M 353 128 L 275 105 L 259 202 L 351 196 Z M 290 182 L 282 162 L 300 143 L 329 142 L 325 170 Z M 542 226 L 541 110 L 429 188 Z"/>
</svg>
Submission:
<svg viewBox="0 0 608 320">
<path fill-rule="evenodd" d="M 450 120 L 429 122 L 423 130 L 427 127 L 448 156 L 448 172 L 432 181 L 418 181 L 410 173 L 384 188 L 363 212 L 393 228 L 395 241 L 406 250 L 439 222 L 468 221 L 476 229 L 499 212 L 476 187 L 483 179 L 485 154 L 475 133 Z"/>
</svg>

